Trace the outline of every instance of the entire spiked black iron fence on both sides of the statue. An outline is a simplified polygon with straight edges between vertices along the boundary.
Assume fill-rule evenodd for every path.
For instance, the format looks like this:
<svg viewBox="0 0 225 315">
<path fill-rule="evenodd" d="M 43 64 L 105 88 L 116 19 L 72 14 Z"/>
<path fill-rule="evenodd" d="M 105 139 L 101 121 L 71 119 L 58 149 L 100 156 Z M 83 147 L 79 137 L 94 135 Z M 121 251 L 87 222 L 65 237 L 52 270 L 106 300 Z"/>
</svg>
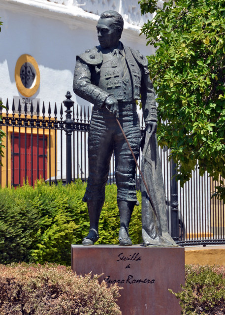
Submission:
<svg viewBox="0 0 225 315">
<path fill-rule="evenodd" d="M 54 108 L 44 102 L 22 105 L 20 100 L 13 100 L 9 108 L 6 101 L 6 110 L 0 109 L 0 128 L 6 133 L 4 157 L 0 158 L 1 187 L 21 186 L 25 182 L 34 185 L 39 178 L 50 185 L 59 180 L 87 180 L 87 132 L 92 109 L 74 106 L 70 98 L 67 93 L 65 107 L 55 104 Z M 140 126 L 143 132 L 142 116 Z M 181 188 L 171 181 L 174 165 L 168 162 L 169 154 L 169 150 L 160 149 L 170 234 L 180 245 L 225 244 L 225 207 L 223 202 L 211 198 L 218 183 L 207 174 L 199 176 L 196 168 L 192 179 Z M 137 189 L 140 181 L 137 171 Z M 114 157 L 108 178 L 109 184 L 113 182 Z"/>
</svg>

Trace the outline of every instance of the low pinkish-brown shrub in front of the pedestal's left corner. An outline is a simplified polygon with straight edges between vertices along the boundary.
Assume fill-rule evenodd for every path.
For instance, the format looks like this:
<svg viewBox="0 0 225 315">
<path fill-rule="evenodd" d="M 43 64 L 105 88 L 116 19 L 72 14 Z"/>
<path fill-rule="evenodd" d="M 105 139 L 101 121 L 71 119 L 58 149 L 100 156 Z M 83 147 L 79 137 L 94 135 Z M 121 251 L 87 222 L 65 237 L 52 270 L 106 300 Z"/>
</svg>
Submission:
<svg viewBox="0 0 225 315">
<path fill-rule="evenodd" d="M 120 315 L 119 287 L 97 278 L 55 264 L 0 265 L 0 314 Z"/>
</svg>

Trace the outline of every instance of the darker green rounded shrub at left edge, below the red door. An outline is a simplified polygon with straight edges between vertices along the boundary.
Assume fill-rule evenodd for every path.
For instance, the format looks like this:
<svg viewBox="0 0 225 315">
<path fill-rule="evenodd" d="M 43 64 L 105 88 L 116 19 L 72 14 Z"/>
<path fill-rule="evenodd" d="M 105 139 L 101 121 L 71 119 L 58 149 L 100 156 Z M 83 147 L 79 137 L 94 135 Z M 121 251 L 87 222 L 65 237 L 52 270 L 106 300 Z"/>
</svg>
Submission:
<svg viewBox="0 0 225 315">
<path fill-rule="evenodd" d="M 39 213 L 32 202 L 13 189 L 0 189 L 0 263 L 30 260 L 38 224 Z"/>
</svg>

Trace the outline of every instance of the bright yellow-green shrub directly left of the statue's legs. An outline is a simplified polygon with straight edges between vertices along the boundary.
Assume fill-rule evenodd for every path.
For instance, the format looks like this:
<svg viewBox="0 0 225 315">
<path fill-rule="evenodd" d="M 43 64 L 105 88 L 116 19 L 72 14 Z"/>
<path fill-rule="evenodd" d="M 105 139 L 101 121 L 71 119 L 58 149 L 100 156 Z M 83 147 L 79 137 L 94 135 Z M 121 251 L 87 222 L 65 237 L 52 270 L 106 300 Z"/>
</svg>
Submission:
<svg viewBox="0 0 225 315">
<path fill-rule="evenodd" d="M 73 195 L 71 189 L 63 187 L 62 183 L 59 183 L 59 186 L 49 186 L 43 181 L 37 181 L 34 189 L 29 185 L 16 189 L 15 193 L 19 194 L 21 199 L 29 199 L 40 216 L 35 244 L 30 249 L 30 261 L 70 264 L 70 244 L 74 243 L 74 235 L 79 225 L 76 224 L 77 218 L 73 221 L 69 200 L 76 201 L 80 185 L 78 183 L 77 186 L 71 186 Z M 76 217 L 84 219 L 79 212 L 77 209 Z"/>
</svg>

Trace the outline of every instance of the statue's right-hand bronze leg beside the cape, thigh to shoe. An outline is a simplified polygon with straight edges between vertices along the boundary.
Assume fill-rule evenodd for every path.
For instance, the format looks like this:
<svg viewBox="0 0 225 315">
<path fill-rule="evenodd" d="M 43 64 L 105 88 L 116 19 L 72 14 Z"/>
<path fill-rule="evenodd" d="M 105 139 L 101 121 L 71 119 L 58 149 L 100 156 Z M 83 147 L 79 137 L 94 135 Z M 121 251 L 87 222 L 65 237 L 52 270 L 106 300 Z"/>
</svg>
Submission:
<svg viewBox="0 0 225 315">
<path fill-rule="evenodd" d="M 140 127 L 136 113 L 121 120 L 121 125 L 123 126 L 135 158 L 138 159 Z M 120 246 L 131 246 L 129 222 L 134 205 L 137 204 L 135 182 L 136 164 L 123 134 L 118 132 L 115 139 L 115 177 L 118 188 L 117 202 L 120 212 L 119 244 Z"/>
</svg>

